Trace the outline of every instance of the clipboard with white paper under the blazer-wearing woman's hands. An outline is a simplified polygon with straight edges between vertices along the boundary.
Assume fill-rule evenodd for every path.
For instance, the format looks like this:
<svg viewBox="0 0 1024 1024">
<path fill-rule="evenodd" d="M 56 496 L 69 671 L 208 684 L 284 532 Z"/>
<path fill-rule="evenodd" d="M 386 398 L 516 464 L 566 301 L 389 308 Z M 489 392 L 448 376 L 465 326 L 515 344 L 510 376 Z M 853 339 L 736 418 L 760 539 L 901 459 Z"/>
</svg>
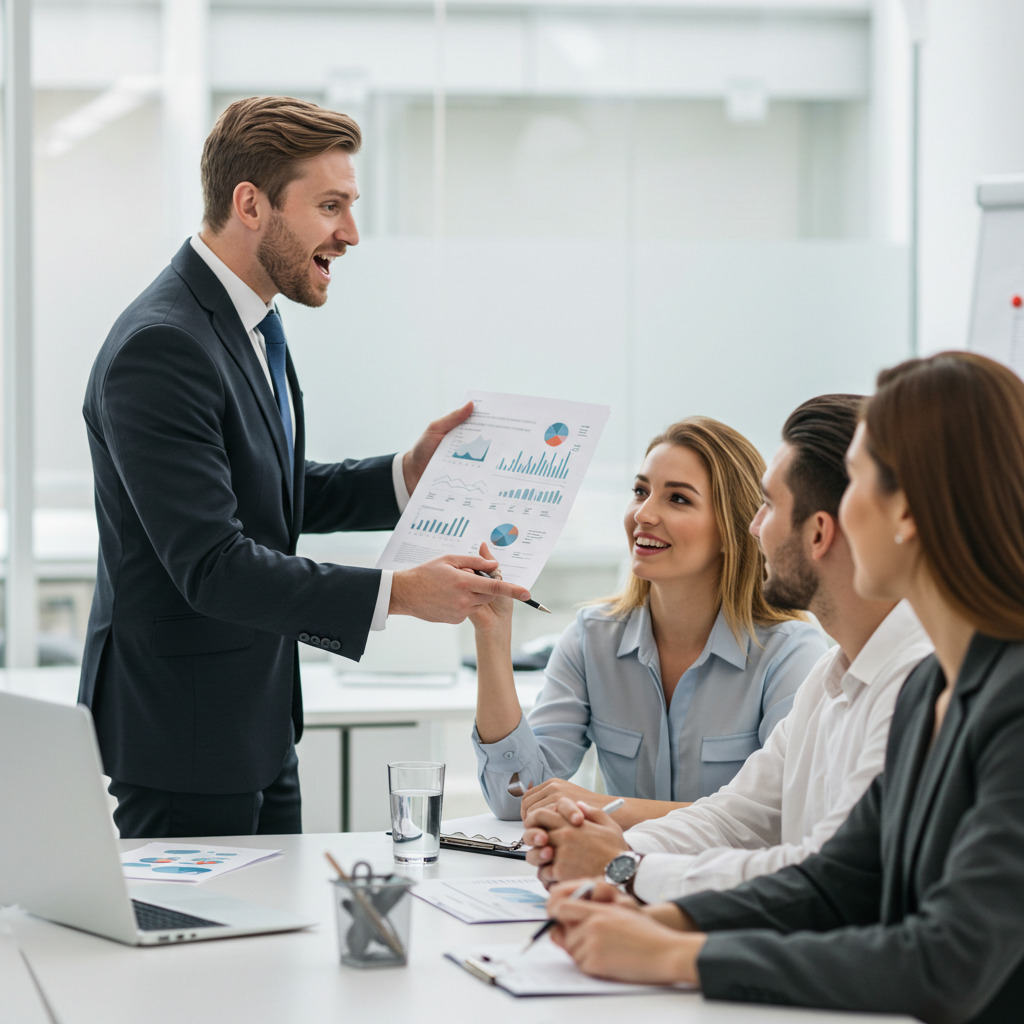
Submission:
<svg viewBox="0 0 1024 1024">
<path fill-rule="evenodd" d="M 535 943 L 525 952 L 521 946 L 473 946 L 446 952 L 474 978 L 515 996 L 529 995 L 664 995 L 691 985 L 634 985 L 606 981 L 584 974 L 564 949 L 552 942 Z"/>
</svg>

